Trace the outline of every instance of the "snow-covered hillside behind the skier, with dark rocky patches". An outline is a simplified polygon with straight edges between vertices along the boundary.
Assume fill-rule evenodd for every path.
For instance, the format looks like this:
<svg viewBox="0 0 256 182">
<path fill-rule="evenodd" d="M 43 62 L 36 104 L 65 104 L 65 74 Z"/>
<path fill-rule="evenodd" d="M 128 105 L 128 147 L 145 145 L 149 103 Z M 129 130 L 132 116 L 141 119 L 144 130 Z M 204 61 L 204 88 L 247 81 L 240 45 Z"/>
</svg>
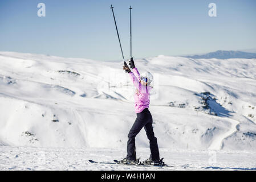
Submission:
<svg viewBox="0 0 256 182">
<path fill-rule="evenodd" d="M 0 52 L 0 145 L 124 147 L 136 119 L 121 61 Z M 150 111 L 159 147 L 255 150 L 256 60 L 157 56 Z M 145 131 L 136 145 L 148 146 Z"/>
</svg>

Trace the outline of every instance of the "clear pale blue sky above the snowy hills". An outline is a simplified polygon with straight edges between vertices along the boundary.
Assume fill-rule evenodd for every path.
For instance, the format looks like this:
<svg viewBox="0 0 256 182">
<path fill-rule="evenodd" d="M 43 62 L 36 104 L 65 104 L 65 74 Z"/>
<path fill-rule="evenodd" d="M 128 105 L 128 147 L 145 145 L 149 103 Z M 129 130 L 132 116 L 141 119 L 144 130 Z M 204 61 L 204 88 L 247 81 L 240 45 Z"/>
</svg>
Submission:
<svg viewBox="0 0 256 182">
<path fill-rule="evenodd" d="M 40 2 L 46 17 L 37 16 Z M 255 0 L 1 0 L 0 51 L 121 60 L 111 4 L 125 59 L 130 5 L 135 58 L 256 48 Z"/>
</svg>

